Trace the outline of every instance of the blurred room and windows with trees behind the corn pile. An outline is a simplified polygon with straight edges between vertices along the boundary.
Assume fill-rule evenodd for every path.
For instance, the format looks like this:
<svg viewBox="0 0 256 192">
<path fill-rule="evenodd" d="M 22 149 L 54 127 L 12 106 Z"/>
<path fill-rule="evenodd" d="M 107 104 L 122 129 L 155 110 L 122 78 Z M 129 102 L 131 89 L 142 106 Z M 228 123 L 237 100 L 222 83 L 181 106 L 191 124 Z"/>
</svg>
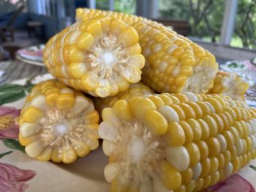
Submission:
<svg viewBox="0 0 256 192">
<path fill-rule="evenodd" d="M 162 22 L 210 50 L 220 61 L 256 56 L 256 0 L 1 0 L 0 49 L 46 42 L 89 7 Z"/>
</svg>

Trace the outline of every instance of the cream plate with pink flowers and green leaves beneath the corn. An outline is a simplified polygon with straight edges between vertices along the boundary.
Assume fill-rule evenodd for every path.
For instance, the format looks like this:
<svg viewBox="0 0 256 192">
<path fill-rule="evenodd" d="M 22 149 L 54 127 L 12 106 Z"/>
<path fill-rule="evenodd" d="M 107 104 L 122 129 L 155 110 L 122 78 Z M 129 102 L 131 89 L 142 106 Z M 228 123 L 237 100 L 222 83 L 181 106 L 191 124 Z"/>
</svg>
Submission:
<svg viewBox="0 0 256 192">
<path fill-rule="evenodd" d="M 9 102 L 2 106 L 8 107 L 8 109 L 11 110 L 21 109 L 25 102 L 25 95 L 28 90 L 30 90 L 32 84 L 50 78 L 53 77 L 50 74 L 46 74 L 34 79 L 18 80 L 12 82 L 12 86 L 9 86 L 10 90 L 6 90 L 6 92 L 4 92 L 2 86 L 0 86 L 0 98 L 1 94 L 15 93 L 15 91 L 19 91 L 18 93 L 23 95 L 22 97 L 16 95 L 14 98 L 10 95 L 10 98 L 8 98 Z M 2 102 L 1 99 L 0 102 Z M 5 131 L 9 129 L 2 128 L 1 126 L 2 112 L 3 110 L 0 108 L 0 191 L 6 191 L 6 189 L 2 190 L 3 188 L 1 188 L 6 186 L 13 187 L 14 190 L 12 191 L 110 191 L 110 184 L 105 181 L 103 174 L 108 159 L 102 152 L 102 146 L 99 146 L 98 150 L 90 152 L 86 157 L 78 158 L 78 160 L 72 164 L 37 161 L 34 158 L 29 158 L 22 152 L 23 148 L 18 145 L 15 138 L 2 137 L 2 134 L 5 134 Z M 9 136 L 14 134 L 13 132 L 10 133 Z M 14 175 L 18 175 L 18 178 L 15 178 Z M 7 180 L 5 186 L 2 186 L 1 183 L 3 178 Z M 230 176 L 229 179 L 231 181 L 229 184 L 227 184 L 227 182 L 219 182 L 214 186 L 215 190 L 210 189 L 210 191 L 220 191 L 216 189 L 226 185 L 229 185 L 229 190 L 224 190 L 226 192 L 238 192 L 238 190 L 236 190 L 238 185 L 247 187 L 243 189 L 256 189 L 256 161 L 251 161 L 247 166 L 242 168 L 238 174 Z M 253 192 L 254 190 L 242 191 Z"/>
</svg>

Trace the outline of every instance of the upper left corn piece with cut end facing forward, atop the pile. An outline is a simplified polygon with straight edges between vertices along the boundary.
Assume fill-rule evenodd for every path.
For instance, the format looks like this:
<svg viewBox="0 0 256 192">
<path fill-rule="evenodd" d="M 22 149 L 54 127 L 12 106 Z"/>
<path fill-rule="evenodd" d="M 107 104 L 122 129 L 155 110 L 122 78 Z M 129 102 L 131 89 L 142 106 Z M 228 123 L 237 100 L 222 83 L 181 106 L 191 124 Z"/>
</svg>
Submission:
<svg viewBox="0 0 256 192">
<path fill-rule="evenodd" d="M 66 85 L 107 97 L 140 81 L 145 58 L 133 27 L 98 17 L 76 22 L 51 38 L 44 63 Z"/>
</svg>

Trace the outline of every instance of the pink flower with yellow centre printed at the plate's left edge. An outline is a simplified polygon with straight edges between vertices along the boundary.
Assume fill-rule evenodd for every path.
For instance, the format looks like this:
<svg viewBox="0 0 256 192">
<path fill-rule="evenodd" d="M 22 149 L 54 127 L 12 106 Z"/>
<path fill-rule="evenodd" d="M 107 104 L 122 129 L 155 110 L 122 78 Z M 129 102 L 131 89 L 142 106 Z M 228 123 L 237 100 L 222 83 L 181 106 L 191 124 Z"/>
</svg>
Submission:
<svg viewBox="0 0 256 192">
<path fill-rule="evenodd" d="M 0 138 L 18 138 L 18 118 L 21 110 L 14 107 L 0 106 Z"/>
</svg>

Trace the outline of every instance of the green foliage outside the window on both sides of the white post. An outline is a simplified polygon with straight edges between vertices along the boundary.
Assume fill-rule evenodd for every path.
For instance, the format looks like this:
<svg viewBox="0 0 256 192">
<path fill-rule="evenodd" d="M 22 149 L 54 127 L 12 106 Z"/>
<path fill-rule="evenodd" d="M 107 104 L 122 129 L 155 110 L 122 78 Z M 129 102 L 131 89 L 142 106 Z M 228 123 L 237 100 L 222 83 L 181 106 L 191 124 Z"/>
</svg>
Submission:
<svg viewBox="0 0 256 192">
<path fill-rule="evenodd" d="M 159 18 L 185 19 L 190 36 L 219 42 L 225 0 L 158 0 Z M 238 0 L 231 46 L 256 49 L 256 0 Z"/>
</svg>

